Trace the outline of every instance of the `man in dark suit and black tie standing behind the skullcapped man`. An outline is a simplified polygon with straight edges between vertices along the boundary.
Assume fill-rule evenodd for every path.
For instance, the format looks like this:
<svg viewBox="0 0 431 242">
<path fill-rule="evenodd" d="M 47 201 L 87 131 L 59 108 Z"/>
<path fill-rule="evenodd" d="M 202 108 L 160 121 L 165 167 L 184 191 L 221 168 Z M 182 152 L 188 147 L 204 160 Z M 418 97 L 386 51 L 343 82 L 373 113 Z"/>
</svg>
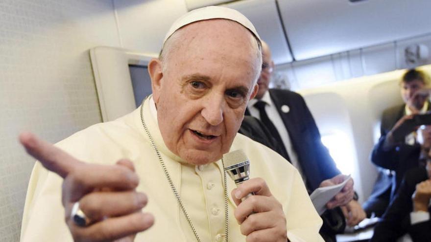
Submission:
<svg viewBox="0 0 431 242">
<path fill-rule="evenodd" d="M 296 92 L 282 89 L 269 89 L 268 85 L 274 63 L 269 46 L 262 44 L 263 64 L 258 80 L 259 90 L 256 99 L 250 100 L 246 114 L 259 118 L 272 136 L 281 144 L 279 153 L 290 161 L 300 172 L 310 192 L 320 186 L 342 182 L 345 178 L 335 166 L 326 147 L 320 140 L 314 118 L 303 97 Z M 338 207 L 342 206 L 349 225 L 355 225 L 365 218 L 365 213 L 354 195 L 353 180 L 328 202 L 329 212 L 322 219 L 324 225 L 321 235 L 325 241 L 335 241 L 335 232 L 343 232 L 344 224 L 334 220 L 331 212 L 339 211 L 342 222 L 344 217 Z M 334 210 L 334 208 L 337 208 Z M 329 231 L 329 230 L 337 231 Z"/>
</svg>

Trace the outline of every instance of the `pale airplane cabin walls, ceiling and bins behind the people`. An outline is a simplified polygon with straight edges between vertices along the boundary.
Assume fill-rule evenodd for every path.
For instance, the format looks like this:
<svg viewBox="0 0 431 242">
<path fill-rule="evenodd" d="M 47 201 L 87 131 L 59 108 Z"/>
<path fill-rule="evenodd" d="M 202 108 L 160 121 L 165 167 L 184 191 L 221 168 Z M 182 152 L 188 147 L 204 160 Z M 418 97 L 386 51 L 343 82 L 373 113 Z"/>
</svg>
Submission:
<svg viewBox="0 0 431 242">
<path fill-rule="evenodd" d="M 403 104 L 406 69 L 431 74 L 431 1 L 0 0 L 0 241 L 20 240 L 35 163 L 18 134 L 55 143 L 135 110 L 170 24 L 209 5 L 255 25 L 275 63 L 271 87 L 305 98 L 359 202 L 370 196 L 383 110 Z M 366 241 L 355 236 L 338 241 Z"/>
</svg>

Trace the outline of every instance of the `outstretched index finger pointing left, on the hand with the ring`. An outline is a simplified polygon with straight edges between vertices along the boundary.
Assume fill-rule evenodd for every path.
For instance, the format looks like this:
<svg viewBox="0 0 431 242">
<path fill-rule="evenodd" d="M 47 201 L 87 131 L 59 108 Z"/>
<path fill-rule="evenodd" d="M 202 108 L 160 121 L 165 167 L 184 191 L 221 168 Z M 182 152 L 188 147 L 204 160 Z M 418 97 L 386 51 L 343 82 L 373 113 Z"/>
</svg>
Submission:
<svg viewBox="0 0 431 242">
<path fill-rule="evenodd" d="M 19 140 L 28 154 L 39 160 L 49 171 L 55 172 L 63 178 L 76 166 L 83 164 L 51 143 L 39 139 L 33 133 L 21 133 Z"/>
</svg>

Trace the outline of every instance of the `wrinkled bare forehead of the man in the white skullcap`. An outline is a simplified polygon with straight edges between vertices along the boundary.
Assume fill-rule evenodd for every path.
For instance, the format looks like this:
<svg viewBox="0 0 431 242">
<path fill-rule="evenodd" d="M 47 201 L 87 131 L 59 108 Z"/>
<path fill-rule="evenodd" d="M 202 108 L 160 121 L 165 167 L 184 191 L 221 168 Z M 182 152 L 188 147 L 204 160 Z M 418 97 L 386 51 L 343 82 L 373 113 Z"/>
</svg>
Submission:
<svg viewBox="0 0 431 242">
<path fill-rule="evenodd" d="M 215 19 L 191 23 L 178 30 L 175 47 L 168 55 L 168 68 L 191 67 L 206 61 L 226 68 L 243 67 L 258 75 L 262 65 L 259 43 L 237 22 Z M 188 63 L 189 66 L 183 66 Z M 172 65 L 173 64 L 173 65 Z"/>
</svg>

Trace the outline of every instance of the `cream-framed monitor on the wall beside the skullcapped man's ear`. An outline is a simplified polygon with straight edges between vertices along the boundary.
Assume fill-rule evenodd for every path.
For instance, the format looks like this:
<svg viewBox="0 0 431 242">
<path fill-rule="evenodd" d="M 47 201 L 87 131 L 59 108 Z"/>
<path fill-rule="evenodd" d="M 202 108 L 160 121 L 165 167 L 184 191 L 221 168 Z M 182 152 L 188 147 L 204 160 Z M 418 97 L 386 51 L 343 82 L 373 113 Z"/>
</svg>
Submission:
<svg viewBox="0 0 431 242">
<path fill-rule="evenodd" d="M 157 55 L 117 47 L 90 49 L 103 122 L 130 113 L 151 94 L 147 66 L 152 58 Z"/>
</svg>

